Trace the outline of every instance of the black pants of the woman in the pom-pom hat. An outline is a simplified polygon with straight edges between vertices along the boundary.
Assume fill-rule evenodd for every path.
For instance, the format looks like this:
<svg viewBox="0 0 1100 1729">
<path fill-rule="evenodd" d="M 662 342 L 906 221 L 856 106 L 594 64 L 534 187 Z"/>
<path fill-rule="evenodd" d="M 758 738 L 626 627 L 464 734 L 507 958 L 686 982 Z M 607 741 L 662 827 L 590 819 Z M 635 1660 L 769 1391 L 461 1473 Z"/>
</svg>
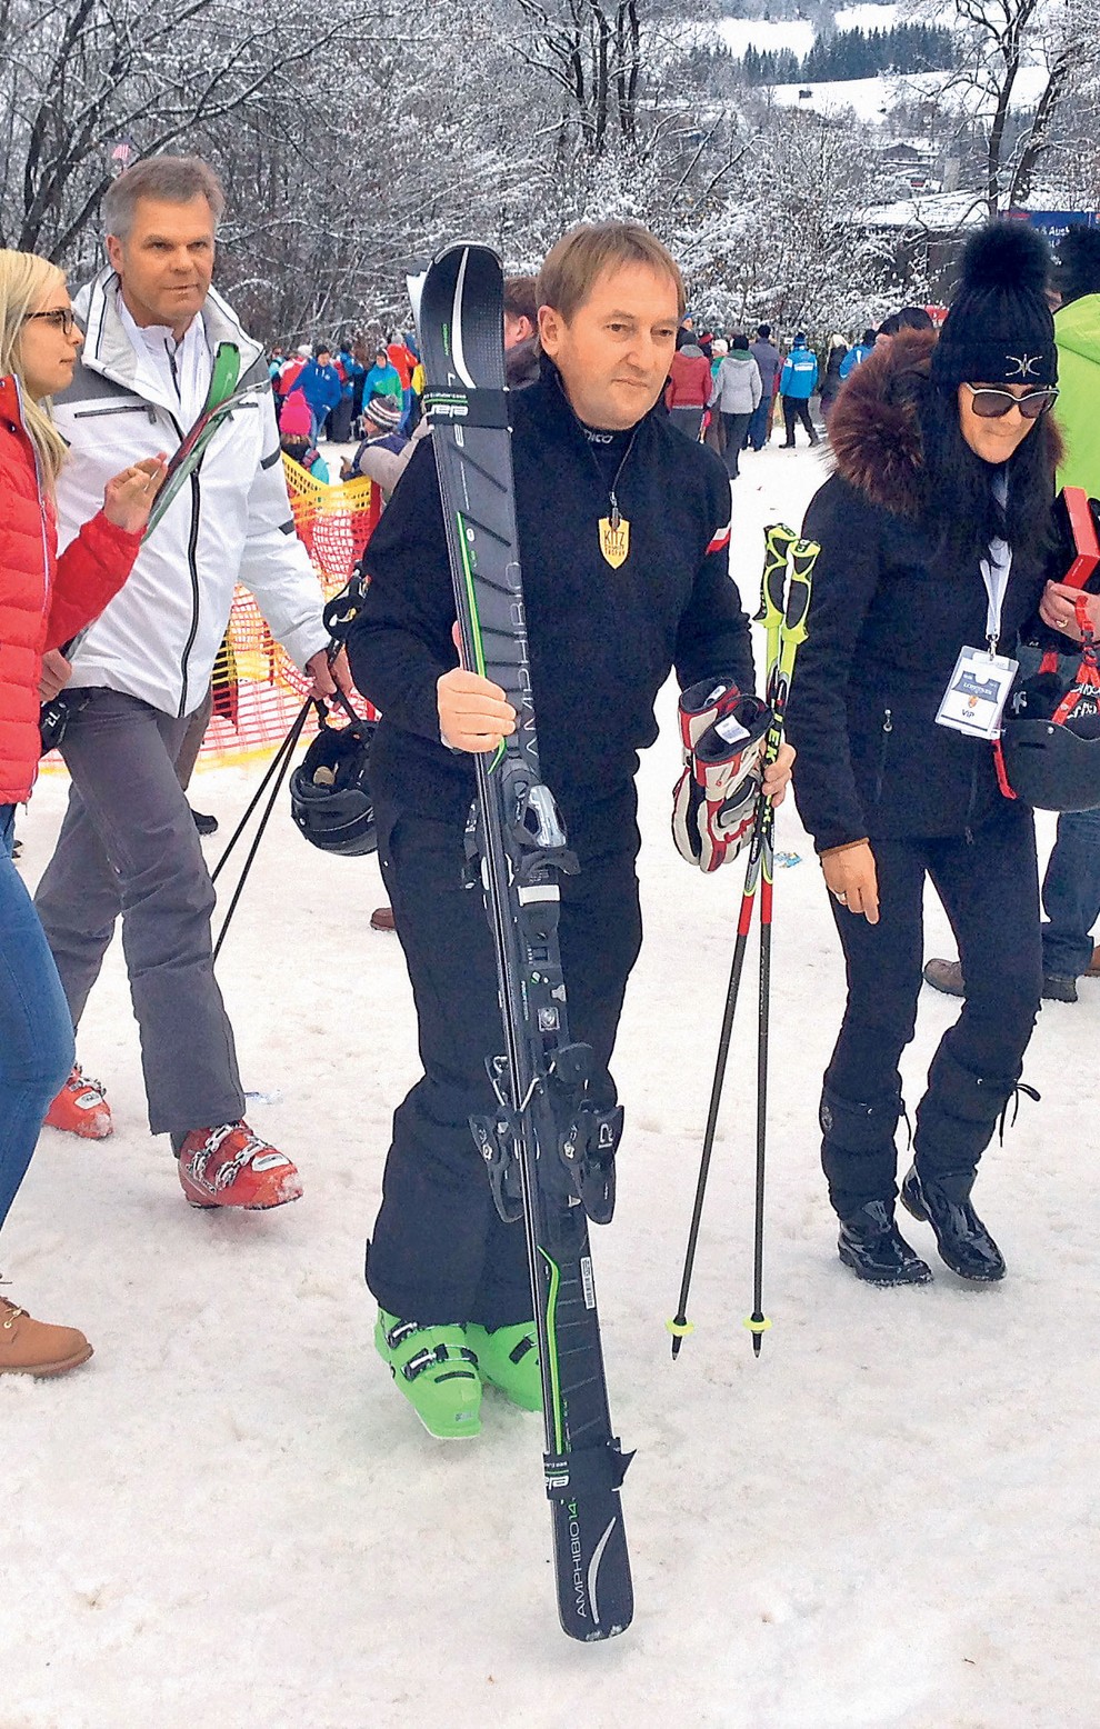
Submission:
<svg viewBox="0 0 1100 1729">
<path fill-rule="evenodd" d="M 825 1072 L 822 1165 L 841 1217 L 896 1195 L 898 1062 L 917 1030 L 925 877 L 958 941 L 967 998 L 929 1067 L 913 1145 L 918 1169 L 960 1195 L 1020 1077 L 1043 984 L 1027 806 L 1005 801 L 969 840 L 872 840 L 872 851 L 879 923 L 828 897 L 847 963 L 847 1008 Z"/>
</svg>

